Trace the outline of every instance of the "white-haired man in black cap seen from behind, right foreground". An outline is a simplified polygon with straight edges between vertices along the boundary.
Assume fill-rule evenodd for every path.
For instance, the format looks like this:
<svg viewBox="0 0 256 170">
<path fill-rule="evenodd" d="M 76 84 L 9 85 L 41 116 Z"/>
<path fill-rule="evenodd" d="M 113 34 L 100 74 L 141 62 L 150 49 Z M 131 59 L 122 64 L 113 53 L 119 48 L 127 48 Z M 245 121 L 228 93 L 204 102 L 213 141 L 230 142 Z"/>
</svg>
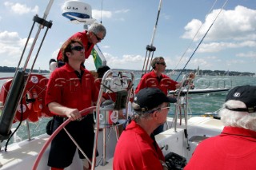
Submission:
<svg viewBox="0 0 256 170">
<path fill-rule="evenodd" d="M 231 89 L 219 114 L 222 133 L 198 144 L 185 170 L 256 169 L 256 86 Z"/>
</svg>

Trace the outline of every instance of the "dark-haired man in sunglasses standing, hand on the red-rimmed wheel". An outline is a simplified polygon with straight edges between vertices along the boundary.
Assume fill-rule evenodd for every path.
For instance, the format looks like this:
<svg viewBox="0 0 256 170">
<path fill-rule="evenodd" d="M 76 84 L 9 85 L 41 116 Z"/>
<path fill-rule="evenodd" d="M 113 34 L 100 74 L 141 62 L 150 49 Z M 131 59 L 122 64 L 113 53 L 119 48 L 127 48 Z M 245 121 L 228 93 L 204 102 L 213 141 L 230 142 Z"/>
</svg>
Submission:
<svg viewBox="0 0 256 170">
<path fill-rule="evenodd" d="M 92 158 L 94 148 L 94 119 L 92 114 L 82 119 L 79 111 L 89 108 L 98 99 L 98 89 L 93 75 L 81 66 L 85 60 L 85 49 L 77 38 L 71 38 L 62 47 L 66 65 L 57 68 L 50 75 L 46 89 L 46 105 L 54 113 L 54 130 L 67 118 L 71 119 L 66 130 L 73 136 L 86 156 Z M 77 146 L 62 129 L 51 142 L 48 165 L 51 170 L 62 170 L 72 163 Z M 79 151 L 84 169 L 90 169 L 89 162 Z"/>
</svg>

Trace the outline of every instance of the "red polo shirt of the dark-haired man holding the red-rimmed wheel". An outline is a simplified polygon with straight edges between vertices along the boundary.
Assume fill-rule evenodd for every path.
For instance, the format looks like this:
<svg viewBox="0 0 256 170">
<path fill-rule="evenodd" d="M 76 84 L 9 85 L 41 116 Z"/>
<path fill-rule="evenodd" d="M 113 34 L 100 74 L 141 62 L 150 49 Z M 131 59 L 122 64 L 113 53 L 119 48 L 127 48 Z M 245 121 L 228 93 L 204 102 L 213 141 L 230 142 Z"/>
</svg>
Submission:
<svg viewBox="0 0 256 170">
<path fill-rule="evenodd" d="M 46 105 L 55 101 L 82 110 L 90 107 L 92 101 L 97 101 L 98 89 L 94 85 L 94 77 L 88 70 L 81 69 L 84 71 L 82 81 L 68 64 L 51 73 L 46 89 Z"/>
</svg>

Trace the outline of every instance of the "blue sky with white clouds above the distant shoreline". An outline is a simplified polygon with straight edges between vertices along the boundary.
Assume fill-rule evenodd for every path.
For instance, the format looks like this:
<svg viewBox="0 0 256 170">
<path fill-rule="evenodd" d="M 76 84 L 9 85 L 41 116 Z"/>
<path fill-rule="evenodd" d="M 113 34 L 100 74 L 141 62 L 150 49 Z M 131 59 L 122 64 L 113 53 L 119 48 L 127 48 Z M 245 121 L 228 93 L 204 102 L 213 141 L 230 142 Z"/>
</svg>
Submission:
<svg viewBox="0 0 256 170">
<path fill-rule="evenodd" d="M 154 57 L 165 57 L 166 69 L 182 69 L 225 1 L 162 0 L 162 10 L 154 38 L 156 47 Z M 48 69 L 50 58 L 56 58 L 62 43 L 70 35 L 83 30 L 82 24 L 71 23 L 62 17 L 64 2 L 55 0 L 46 18 L 47 21 L 53 21 L 53 26 L 42 45 L 34 69 L 39 67 Z M 97 19 L 97 22 L 101 21 L 101 9 L 103 9 L 102 24 L 106 26 L 107 33 L 106 38 L 98 45 L 106 57 L 107 65 L 113 69 L 142 69 L 146 45 L 151 42 L 159 1 L 86 0 L 82 2 L 90 4 L 93 18 Z M 209 13 L 214 2 L 216 2 L 214 10 Z M 0 66 L 15 67 L 18 65 L 32 26 L 32 18 L 35 14 L 42 18 L 48 1 L 3 0 L 0 3 Z M 255 16 L 254 0 L 227 2 L 186 68 L 197 69 L 200 66 L 200 69 L 255 73 Z M 191 43 L 201 25 L 202 29 Z M 38 27 L 35 29 L 37 30 Z M 38 40 L 42 39 L 45 30 L 41 31 Z M 35 49 L 38 45 L 39 43 Z M 189 45 L 190 48 L 182 57 Z M 32 58 L 35 51 L 31 55 Z M 27 53 L 24 57 L 27 57 Z M 86 61 L 86 68 L 94 69 L 92 57 Z"/>
</svg>

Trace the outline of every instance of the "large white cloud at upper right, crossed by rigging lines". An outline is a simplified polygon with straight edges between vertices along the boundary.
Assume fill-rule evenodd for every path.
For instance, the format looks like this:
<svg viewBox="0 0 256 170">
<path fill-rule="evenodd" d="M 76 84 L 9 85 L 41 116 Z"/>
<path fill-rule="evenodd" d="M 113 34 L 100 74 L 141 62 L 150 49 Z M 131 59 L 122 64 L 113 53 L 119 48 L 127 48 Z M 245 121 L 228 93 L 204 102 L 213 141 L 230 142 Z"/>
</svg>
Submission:
<svg viewBox="0 0 256 170">
<path fill-rule="evenodd" d="M 200 40 L 210 27 L 218 10 L 213 10 L 206 18 L 195 40 Z M 256 10 L 244 6 L 236 6 L 234 10 L 222 10 L 214 26 L 206 35 L 206 40 L 255 40 L 256 38 Z M 185 26 L 186 32 L 182 38 L 193 38 L 201 26 L 201 21 L 193 19 Z"/>
</svg>

